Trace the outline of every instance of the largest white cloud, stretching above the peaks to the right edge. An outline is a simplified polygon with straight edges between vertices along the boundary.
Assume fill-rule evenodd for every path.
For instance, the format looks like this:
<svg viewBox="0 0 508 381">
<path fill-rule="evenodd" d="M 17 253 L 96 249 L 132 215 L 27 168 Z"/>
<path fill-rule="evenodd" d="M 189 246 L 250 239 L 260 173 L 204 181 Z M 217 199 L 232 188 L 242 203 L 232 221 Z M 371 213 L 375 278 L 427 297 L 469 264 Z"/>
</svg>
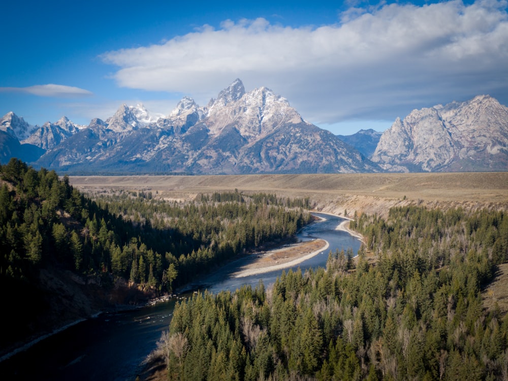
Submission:
<svg viewBox="0 0 508 381">
<path fill-rule="evenodd" d="M 178 92 L 200 104 L 236 77 L 246 90 L 266 85 L 314 123 L 393 120 L 477 94 L 508 101 L 505 1 L 352 8 L 320 27 L 225 20 L 102 58 L 118 66 L 120 86 Z"/>
</svg>

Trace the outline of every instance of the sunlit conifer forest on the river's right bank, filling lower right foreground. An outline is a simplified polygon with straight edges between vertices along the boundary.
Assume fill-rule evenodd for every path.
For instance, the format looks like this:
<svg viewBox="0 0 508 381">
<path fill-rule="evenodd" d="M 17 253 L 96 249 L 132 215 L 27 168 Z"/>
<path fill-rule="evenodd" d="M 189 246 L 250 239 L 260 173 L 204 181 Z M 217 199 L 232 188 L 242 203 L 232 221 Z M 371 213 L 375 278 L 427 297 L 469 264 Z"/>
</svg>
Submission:
<svg viewBox="0 0 508 381">
<path fill-rule="evenodd" d="M 481 295 L 508 259 L 505 212 L 407 207 L 353 225 L 367 239 L 354 271 L 351 253 L 330 253 L 326 271 L 177 305 L 168 377 L 506 379 L 508 317 Z"/>
</svg>

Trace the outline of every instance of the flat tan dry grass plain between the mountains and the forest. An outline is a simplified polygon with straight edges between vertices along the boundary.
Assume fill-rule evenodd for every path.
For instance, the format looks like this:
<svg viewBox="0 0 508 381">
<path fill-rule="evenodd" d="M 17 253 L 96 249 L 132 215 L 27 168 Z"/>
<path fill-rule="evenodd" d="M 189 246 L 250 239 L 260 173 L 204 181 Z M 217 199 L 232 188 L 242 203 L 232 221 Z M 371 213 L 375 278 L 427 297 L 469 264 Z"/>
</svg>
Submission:
<svg viewBox="0 0 508 381">
<path fill-rule="evenodd" d="M 508 172 L 86 176 L 70 181 L 86 192 L 142 190 L 168 200 L 235 189 L 308 196 L 316 210 L 337 215 L 347 211 L 349 216 L 355 211 L 384 215 L 390 207 L 409 204 L 444 209 L 508 207 Z"/>
</svg>

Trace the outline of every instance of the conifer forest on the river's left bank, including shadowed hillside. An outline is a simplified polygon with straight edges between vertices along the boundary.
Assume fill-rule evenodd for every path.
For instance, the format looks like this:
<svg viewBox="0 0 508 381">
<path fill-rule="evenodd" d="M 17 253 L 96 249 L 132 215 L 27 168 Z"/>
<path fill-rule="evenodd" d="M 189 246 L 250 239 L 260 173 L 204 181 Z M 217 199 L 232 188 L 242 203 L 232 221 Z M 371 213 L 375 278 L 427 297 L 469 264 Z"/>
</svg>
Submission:
<svg viewBox="0 0 508 381">
<path fill-rule="evenodd" d="M 167 202 L 150 192 L 86 196 L 55 171 L 20 160 L 0 166 L 0 287 L 6 316 L 26 331 L 43 305 L 42 271 L 64 270 L 105 291 L 117 280 L 150 295 L 172 292 L 234 256 L 290 240 L 310 221 L 308 199 L 240 192 Z M 101 291 L 102 292 L 102 291 Z M 107 298 L 106 298 L 107 299 Z M 5 341 L 16 337 L 6 337 Z M 5 344 L 5 342 L 4 342 Z"/>
</svg>

